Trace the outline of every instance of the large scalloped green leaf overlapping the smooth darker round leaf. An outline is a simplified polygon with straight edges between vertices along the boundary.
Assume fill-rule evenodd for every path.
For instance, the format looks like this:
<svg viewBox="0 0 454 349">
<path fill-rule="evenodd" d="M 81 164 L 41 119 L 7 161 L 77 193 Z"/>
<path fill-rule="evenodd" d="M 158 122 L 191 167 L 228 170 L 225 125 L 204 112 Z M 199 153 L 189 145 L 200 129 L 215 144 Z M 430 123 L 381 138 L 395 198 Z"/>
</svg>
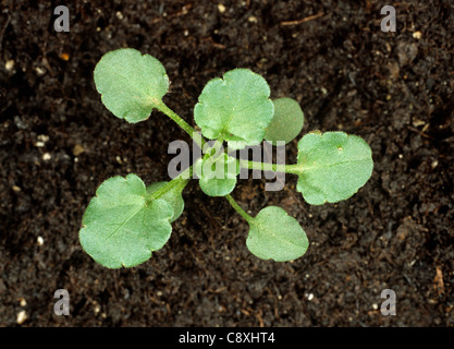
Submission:
<svg viewBox="0 0 454 349">
<path fill-rule="evenodd" d="M 273 116 L 266 80 L 247 69 L 234 69 L 207 83 L 194 108 L 204 136 L 223 139 L 232 149 L 260 144 Z"/>
</svg>

